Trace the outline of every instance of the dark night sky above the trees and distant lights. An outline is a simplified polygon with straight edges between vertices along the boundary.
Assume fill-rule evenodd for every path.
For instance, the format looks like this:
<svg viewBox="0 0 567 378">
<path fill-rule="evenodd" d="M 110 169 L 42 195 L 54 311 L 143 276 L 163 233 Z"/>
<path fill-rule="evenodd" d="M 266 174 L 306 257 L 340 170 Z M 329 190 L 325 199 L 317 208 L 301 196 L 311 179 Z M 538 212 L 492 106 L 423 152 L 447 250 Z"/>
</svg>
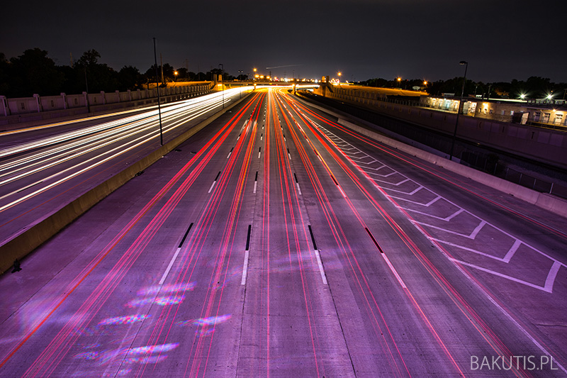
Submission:
<svg viewBox="0 0 567 378">
<path fill-rule="evenodd" d="M 7 1 L 0 52 L 40 48 L 57 65 L 86 50 L 115 70 L 224 65 L 272 76 L 567 82 L 564 0 Z M 282 67 L 287 66 L 287 67 Z"/>
</svg>

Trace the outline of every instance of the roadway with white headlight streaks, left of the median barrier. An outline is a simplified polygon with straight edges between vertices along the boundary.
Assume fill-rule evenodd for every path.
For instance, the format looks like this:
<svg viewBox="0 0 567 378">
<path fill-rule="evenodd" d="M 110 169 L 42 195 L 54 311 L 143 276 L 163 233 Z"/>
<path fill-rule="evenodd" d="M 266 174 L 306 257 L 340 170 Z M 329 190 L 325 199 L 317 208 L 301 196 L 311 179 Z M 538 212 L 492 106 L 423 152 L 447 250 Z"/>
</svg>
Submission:
<svg viewBox="0 0 567 378">
<path fill-rule="evenodd" d="M 230 89 L 186 101 L 0 133 L 0 242 L 174 139 L 242 96 Z M 160 120 L 162 132 L 160 132 Z"/>
</svg>

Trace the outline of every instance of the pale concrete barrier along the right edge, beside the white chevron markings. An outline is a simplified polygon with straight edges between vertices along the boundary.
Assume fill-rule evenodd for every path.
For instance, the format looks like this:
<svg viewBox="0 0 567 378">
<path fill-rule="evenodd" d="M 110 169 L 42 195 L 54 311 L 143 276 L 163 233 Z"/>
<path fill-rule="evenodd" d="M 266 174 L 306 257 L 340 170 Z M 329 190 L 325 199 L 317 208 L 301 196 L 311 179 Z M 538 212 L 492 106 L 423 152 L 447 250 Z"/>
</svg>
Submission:
<svg viewBox="0 0 567 378">
<path fill-rule="evenodd" d="M 556 196 L 551 196 L 547 193 L 540 193 L 539 191 L 534 191 L 532 189 L 528 189 L 526 187 L 522 187 L 521 185 L 514 184 L 513 182 L 506 181 L 505 179 L 500 179 L 500 177 L 495 177 L 491 174 L 481 172 L 477 169 L 466 167 L 466 165 L 461 165 L 458 162 L 454 162 L 448 160 L 444 157 L 434 155 L 430 152 L 426 152 L 424 150 L 420 150 L 419 148 L 412 147 L 405 143 L 402 143 L 398 140 L 388 138 L 386 135 L 381 135 L 376 133 L 374 130 L 369 130 L 367 128 L 363 128 L 358 126 L 350 121 L 347 121 L 345 118 L 352 118 L 348 117 L 346 113 L 338 113 L 335 111 L 331 111 L 325 107 L 318 106 L 310 102 L 310 105 L 314 108 L 317 108 L 321 111 L 325 111 L 325 113 L 329 113 L 332 116 L 338 118 L 338 123 L 351 128 L 352 130 L 361 133 L 362 135 L 366 135 L 369 138 L 374 140 L 378 140 L 385 145 L 389 145 L 392 148 L 396 148 L 400 151 L 413 155 L 415 157 L 419 157 L 422 160 L 430 162 L 438 167 L 442 167 L 447 169 L 450 172 L 455 172 L 460 174 L 461 176 L 468 177 L 476 182 L 480 182 L 481 184 L 485 184 L 488 187 L 497 189 L 502 191 L 505 194 L 510 194 L 512 196 L 517 197 L 518 199 L 522 199 L 523 201 L 528 202 L 529 204 L 534 204 L 541 209 L 545 209 L 547 211 L 551 211 L 552 213 L 557 214 L 558 216 L 563 216 L 567 218 L 567 201 Z M 361 121 L 361 123 L 366 123 L 366 121 Z"/>
</svg>

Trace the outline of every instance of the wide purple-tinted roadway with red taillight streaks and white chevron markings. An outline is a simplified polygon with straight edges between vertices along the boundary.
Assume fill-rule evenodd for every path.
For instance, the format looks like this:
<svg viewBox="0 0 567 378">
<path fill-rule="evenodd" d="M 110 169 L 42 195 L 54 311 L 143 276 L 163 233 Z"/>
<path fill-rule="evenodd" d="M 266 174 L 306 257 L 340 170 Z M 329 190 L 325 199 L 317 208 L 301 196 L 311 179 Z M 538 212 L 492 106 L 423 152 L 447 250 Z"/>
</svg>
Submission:
<svg viewBox="0 0 567 378">
<path fill-rule="evenodd" d="M 0 377 L 565 377 L 565 230 L 260 89 L 0 277 Z"/>
</svg>

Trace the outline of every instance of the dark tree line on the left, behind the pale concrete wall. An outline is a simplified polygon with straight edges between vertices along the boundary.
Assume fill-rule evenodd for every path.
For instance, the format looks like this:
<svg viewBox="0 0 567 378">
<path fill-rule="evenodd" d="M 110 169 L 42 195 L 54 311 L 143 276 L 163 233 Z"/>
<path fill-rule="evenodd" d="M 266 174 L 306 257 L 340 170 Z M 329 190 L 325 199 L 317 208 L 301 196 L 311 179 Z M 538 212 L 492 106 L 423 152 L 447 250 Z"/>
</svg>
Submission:
<svg viewBox="0 0 567 378">
<path fill-rule="evenodd" d="M 100 91 L 126 91 L 143 89 L 156 82 L 156 66 L 140 72 L 131 65 L 116 71 L 112 67 L 99 62 L 101 55 L 96 50 L 88 50 L 70 65 L 56 65 L 46 50 L 33 48 L 18 57 L 6 58 L 0 52 L 0 95 L 8 98 L 55 96 L 60 93 L 80 94 L 83 91 L 96 93 Z M 163 68 L 163 82 L 162 82 Z M 189 72 L 186 67 L 174 69 L 169 63 L 157 66 L 158 81 L 164 86 L 174 80 L 210 81 L 213 75 L 221 70 L 208 72 Z M 174 74 L 177 72 L 177 74 Z M 223 72 L 225 79 L 247 79 L 246 75 L 232 77 Z"/>
</svg>

